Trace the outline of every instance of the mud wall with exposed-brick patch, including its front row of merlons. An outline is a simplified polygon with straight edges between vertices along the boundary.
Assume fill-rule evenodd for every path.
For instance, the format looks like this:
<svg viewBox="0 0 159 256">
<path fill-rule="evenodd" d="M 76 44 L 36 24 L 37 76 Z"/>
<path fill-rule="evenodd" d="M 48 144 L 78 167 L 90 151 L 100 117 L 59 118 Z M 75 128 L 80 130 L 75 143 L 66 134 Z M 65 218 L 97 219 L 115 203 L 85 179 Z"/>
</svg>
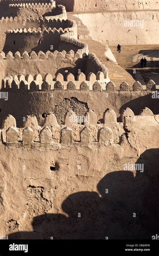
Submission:
<svg viewBox="0 0 159 256">
<path fill-rule="evenodd" d="M 45 79 L 48 80 L 49 77 L 50 76 L 47 75 Z M 58 74 L 57 77 L 61 79 Z M 72 76 L 69 77 L 72 79 Z M 27 79 L 32 80 L 33 78 L 26 77 L 25 79 L 27 81 Z M 70 79 L 68 78 L 67 80 Z M 112 108 L 115 111 L 118 122 L 121 120 L 120 114 L 122 110 L 126 107 L 132 109 L 135 115 L 139 115 L 140 110 L 144 109 L 144 107 L 150 108 L 152 110 L 151 114 L 158 114 L 156 104 L 158 99 L 157 97 L 152 98 L 152 91 L 150 91 L 153 90 L 156 92 L 155 84 L 152 81 L 147 85 L 147 90 L 142 90 L 141 84 L 135 83 L 133 86 L 134 91 L 129 91 L 128 85 L 123 83 L 120 86 L 120 91 L 115 91 L 115 86 L 112 82 L 107 83 L 103 90 L 104 84 L 100 83 L 100 81 L 99 83 L 83 81 L 83 74 L 78 76 L 78 79 L 81 79 L 81 84 L 79 81 L 76 83 L 71 80 L 71 82 L 66 81 L 65 83 L 55 81 L 55 83 L 53 83 L 54 90 L 49 90 L 51 81 L 50 83 L 43 84 L 40 75 L 34 77 L 34 81 L 31 82 L 29 90 L 27 82 L 20 82 L 18 85 L 18 79 L 16 77 L 14 77 L 14 80 L 9 83 L 9 85 L 6 81 L 6 89 L 2 88 L 1 92 L 8 92 L 8 100 L 1 99 L 1 122 L 5 116 L 10 113 L 16 118 L 17 124 L 20 126 L 22 125 L 22 118 L 32 114 L 34 114 L 38 122 L 41 123 L 43 114 L 53 112 L 58 123 L 61 124 L 64 122 L 66 112 L 71 109 L 74 109 L 75 113 L 80 116 L 84 116 L 86 111 L 93 109 L 97 115 L 97 120 L 100 122 L 103 122 L 101 120 L 103 118 L 102 113 L 104 113 L 107 108 Z M 79 86 L 79 84 L 80 90 L 75 88 L 75 85 Z M 92 86 L 93 90 L 89 91 L 89 85 Z M 11 89 L 9 89 L 9 87 L 11 87 Z M 25 90 L 25 88 L 27 90 Z M 40 91 L 39 88 L 41 88 Z"/>
</svg>

